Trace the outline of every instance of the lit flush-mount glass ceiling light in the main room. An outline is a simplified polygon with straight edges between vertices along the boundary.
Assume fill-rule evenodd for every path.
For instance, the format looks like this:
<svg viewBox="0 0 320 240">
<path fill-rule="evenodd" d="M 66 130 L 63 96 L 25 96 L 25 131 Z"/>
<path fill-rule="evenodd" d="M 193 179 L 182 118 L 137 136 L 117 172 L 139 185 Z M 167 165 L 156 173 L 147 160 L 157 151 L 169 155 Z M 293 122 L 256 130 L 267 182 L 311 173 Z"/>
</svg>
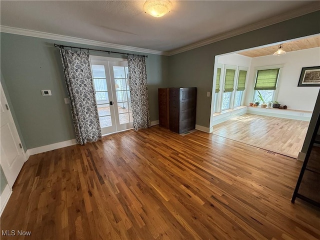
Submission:
<svg viewBox="0 0 320 240">
<path fill-rule="evenodd" d="M 172 3 L 169 0 L 148 0 L 143 5 L 144 12 L 154 17 L 161 17 L 170 12 Z"/>
</svg>

